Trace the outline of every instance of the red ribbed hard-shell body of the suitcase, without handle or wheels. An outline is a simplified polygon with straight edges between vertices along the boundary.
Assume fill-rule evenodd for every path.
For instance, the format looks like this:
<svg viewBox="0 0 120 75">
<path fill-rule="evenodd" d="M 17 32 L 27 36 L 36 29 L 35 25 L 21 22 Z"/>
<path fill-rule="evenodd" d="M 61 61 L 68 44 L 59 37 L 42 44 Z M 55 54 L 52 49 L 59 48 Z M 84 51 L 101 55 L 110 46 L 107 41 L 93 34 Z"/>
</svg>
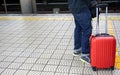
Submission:
<svg viewBox="0 0 120 75">
<path fill-rule="evenodd" d="M 116 40 L 114 37 L 91 39 L 91 66 L 110 68 L 115 64 Z"/>
</svg>

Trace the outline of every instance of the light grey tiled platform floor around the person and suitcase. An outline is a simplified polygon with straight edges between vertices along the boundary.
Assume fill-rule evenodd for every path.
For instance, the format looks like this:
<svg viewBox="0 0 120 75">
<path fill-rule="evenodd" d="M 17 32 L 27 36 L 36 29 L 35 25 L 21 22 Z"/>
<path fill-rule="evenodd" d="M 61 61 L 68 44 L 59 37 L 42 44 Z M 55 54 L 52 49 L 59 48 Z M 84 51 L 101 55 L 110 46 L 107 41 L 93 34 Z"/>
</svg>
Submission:
<svg viewBox="0 0 120 75">
<path fill-rule="evenodd" d="M 100 31 L 104 32 L 104 13 Z M 92 20 L 96 33 L 96 18 Z M 1 14 L 0 75 L 119 75 L 120 14 L 108 14 L 108 32 L 117 40 L 115 70 L 93 71 L 74 57 L 71 14 Z"/>
</svg>

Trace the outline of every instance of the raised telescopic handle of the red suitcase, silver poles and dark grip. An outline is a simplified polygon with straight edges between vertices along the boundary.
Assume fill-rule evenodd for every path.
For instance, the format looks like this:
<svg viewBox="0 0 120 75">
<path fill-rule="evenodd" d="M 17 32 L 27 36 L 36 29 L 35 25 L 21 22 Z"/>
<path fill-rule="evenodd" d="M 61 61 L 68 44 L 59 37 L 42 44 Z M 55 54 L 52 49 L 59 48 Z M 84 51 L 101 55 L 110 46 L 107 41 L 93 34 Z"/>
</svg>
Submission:
<svg viewBox="0 0 120 75">
<path fill-rule="evenodd" d="M 99 8 L 103 8 L 103 7 L 106 7 L 105 33 L 108 34 L 108 23 L 107 23 L 108 4 L 97 4 L 96 5 L 96 17 L 97 17 L 96 34 L 100 34 L 100 29 L 99 29 Z"/>
</svg>

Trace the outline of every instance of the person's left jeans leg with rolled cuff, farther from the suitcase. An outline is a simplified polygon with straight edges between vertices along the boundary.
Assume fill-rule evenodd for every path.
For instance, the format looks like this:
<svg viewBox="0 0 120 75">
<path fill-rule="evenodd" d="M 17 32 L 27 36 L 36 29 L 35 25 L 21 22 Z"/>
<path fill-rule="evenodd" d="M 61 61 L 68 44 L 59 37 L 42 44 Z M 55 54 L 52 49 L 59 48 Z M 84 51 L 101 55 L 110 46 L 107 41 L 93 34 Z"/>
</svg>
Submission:
<svg viewBox="0 0 120 75">
<path fill-rule="evenodd" d="M 82 39 L 82 30 L 79 25 L 79 22 L 75 18 L 75 30 L 74 30 L 74 54 L 81 53 L 81 39 Z"/>
</svg>

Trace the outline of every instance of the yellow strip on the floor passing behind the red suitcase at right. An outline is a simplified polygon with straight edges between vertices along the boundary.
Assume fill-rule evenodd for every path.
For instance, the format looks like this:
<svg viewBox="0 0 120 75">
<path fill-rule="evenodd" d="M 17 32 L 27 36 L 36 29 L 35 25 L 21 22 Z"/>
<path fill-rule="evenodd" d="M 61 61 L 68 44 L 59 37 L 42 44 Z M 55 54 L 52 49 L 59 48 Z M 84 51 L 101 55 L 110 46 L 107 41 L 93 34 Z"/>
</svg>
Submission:
<svg viewBox="0 0 120 75">
<path fill-rule="evenodd" d="M 111 35 L 114 35 L 114 30 L 112 27 L 112 21 L 108 20 L 108 29 Z M 116 58 L 115 58 L 115 68 L 120 69 L 120 55 L 118 54 L 118 48 L 116 48 Z"/>
</svg>

